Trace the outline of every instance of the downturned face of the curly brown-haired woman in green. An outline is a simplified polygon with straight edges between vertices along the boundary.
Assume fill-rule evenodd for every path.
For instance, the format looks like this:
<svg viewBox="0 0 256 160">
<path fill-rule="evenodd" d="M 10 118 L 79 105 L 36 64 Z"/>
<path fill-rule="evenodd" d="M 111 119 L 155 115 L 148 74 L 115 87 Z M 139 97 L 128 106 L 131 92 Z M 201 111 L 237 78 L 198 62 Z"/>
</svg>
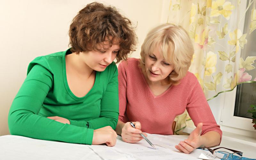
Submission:
<svg viewBox="0 0 256 160">
<path fill-rule="evenodd" d="M 81 58 L 85 64 L 95 71 L 104 71 L 109 64 L 111 64 L 115 58 L 117 52 L 120 50 L 119 44 L 109 45 L 108 42 L 104 42 L 97 46 L 99 51 L 87 51 L 80 53 Z"/>
</svg>

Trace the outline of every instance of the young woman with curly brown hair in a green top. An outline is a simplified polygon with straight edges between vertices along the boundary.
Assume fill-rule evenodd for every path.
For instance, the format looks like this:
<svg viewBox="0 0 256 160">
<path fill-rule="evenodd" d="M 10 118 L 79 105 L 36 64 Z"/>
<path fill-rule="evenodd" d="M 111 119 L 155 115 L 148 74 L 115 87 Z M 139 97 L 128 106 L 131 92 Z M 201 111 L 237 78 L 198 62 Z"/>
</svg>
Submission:
<svg viewBox="0 0 256 160">
<path fill-rule="evenodd" d="M 114 7 L 86 5 L 69 29 L 71 48 L 37 57 L 12 102 L 12 135 L 81 144 L 116 144 L 118 79 L 136 36 Z"/>
</svg>

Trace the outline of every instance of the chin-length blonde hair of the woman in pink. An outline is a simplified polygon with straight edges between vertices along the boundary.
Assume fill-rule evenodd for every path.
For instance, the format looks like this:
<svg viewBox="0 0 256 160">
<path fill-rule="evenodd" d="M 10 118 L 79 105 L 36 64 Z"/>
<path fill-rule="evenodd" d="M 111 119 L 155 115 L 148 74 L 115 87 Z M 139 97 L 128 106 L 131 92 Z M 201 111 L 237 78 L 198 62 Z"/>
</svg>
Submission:
<svg viewBox="0 0 256 160">
<path fill-rule="evenodd" d="M 162 24 L 150 30 L 140 52 L 140 68 L 145 72 L 145 57 L 158 47 L 164 59 L 174 65 L 169 75 L 169 84 L 179 84 L 186 76 L 194 54 L 193 44 L 188 33 L 181 26 L 170 23 Z"/>
</svg>

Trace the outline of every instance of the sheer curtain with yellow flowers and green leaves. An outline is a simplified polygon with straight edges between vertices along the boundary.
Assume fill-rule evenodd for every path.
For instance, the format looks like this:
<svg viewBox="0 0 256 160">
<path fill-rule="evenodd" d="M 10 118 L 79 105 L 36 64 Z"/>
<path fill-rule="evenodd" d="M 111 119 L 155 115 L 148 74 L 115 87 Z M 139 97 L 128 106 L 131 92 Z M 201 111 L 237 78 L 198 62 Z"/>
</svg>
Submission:
<svg viewBox="0 0 256 160">
<path fill-rule="evenodd" d="M 185 28 L 194 43 L 189 71 L 197 77 L 207 100 L 238 84 L 256 81 L 255 52 L 241 55 L 247 39 L 253 41 L 256 32 L 255 6 L 256 0 L 170 1 L 167 22 Z M 244 28 L 245 15 L 250 15 L 249 28 Z M 186 127 L 187 115 L 176 117 L 176 134 Z"/>
</svg>

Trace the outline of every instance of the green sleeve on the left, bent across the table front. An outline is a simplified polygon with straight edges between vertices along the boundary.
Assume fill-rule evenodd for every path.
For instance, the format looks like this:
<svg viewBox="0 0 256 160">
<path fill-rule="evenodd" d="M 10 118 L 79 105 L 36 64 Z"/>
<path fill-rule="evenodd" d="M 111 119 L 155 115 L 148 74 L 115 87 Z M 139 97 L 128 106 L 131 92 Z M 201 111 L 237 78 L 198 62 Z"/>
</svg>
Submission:
<svg viewBox="0 0 256 160">
<path fill-rule="evenodd" d="M 10 108 L 10 133 L 42 140 L 92 144 L 93 129 L 62 124 L 38 115 L 53 81 L 52 73 L 41 65 L 30 70 Z"/>
</svg>

